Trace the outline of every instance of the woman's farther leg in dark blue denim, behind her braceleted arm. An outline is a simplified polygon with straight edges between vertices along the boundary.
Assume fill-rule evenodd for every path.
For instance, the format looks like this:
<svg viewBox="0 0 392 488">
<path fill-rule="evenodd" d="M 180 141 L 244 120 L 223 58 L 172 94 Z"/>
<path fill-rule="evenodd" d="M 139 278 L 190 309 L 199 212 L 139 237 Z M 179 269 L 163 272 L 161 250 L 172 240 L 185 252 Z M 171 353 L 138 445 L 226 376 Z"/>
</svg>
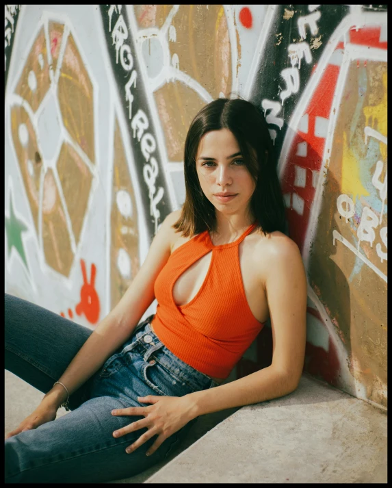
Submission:
<svg viewBox="0 0 392 488">
<path fill-rule="evenodd" d="M 47 393 L 92 331 L 16 296 L 4 304 L 5 369 Z M 93 379 L 70 396 L 70 409 L 89 398 Z"/>
</svg>

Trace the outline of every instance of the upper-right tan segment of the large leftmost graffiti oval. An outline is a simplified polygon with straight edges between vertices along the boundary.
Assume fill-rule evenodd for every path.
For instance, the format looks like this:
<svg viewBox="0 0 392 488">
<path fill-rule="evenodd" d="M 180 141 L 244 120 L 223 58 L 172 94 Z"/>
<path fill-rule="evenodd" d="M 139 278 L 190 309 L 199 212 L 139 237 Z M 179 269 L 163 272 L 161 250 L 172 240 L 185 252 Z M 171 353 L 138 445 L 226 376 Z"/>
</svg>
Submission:
<svg viewBox="0 0 392 488">
<path fill-rule="evenodd" d="M 64 126 L 92 163 L 94 151 L 94 101 L 90 77 L 72 34 L 69 34 L 58 84 Z"/>
</svg>

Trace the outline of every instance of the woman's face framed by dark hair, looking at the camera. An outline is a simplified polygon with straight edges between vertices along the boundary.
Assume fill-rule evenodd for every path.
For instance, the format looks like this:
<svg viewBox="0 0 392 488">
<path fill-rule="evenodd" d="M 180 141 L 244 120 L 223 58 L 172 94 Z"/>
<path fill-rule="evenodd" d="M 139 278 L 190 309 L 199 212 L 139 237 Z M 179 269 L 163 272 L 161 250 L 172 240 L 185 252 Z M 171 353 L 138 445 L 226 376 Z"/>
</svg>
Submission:
<svg viewBox="0 0 392 488">
<path fill-rule="evenodd" d="M 248 209 L 256 188 L 238 142 L 228 129 L 205 133 L 196 155 L 200 187 L 215 209 L 237 214 Z"/>
</svg>

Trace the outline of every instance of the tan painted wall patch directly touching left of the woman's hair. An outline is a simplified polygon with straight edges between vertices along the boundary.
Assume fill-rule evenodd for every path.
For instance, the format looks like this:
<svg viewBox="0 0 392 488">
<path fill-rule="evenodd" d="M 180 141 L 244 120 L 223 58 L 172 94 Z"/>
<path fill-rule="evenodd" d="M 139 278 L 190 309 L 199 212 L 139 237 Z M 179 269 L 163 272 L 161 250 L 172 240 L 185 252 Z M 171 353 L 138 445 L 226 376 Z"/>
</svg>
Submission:
<svg viewBox="0 0 392 488">
<path fill-rule="evenodd" d="M 184 143 L 192 120 L 205 101 L 180 81 L 159 88 L 154 94 L 164 129 L 169 161 L 183 161 Z"/>
</svg>

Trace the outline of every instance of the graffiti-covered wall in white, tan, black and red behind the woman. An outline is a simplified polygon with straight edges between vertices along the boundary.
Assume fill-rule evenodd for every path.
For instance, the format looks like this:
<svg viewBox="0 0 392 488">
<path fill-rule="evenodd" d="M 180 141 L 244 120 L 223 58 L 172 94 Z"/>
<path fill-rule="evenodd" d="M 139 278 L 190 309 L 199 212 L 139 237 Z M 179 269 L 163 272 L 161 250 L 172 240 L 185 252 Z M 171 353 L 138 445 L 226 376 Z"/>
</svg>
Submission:
<svg viewBox="0 0 392 488">
<path fill-rule="evenodd" d="M 304 369 L 387 407 L 387 83 L 385 5 L 5 5 L 5 291 L 93 329 L 185 200 L 192 118 L 239 94 L 306 267 Z"/>
</svg>

